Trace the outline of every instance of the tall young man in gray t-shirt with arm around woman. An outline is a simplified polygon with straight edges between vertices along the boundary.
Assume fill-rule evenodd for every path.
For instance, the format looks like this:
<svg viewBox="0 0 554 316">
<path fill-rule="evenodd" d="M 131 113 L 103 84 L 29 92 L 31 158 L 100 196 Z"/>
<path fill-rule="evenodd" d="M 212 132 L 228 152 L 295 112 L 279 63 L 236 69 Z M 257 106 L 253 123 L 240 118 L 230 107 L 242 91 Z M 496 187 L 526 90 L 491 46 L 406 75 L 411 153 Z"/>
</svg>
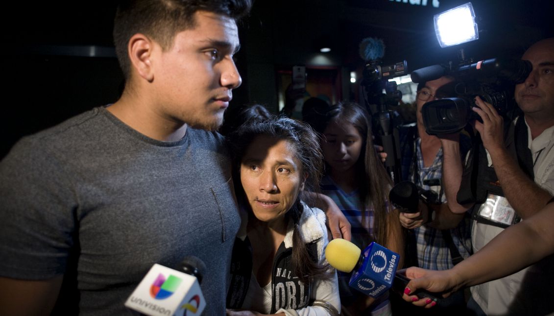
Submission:
<svg viewBox="0 0 554 316">
<path fill-rule="evenodd" d="M 48 314 L 58 297 L 70 314 L 129 313 L 153 263 L 189 254 L 207 265 L 205 313 L 225 313 L 240 218 L 211 131 L 241 83 L 235 20 L 250 6 L 121 2 L 121 98 L 25 137 L 0 165 L 0 314 Z"/>
</svg>

